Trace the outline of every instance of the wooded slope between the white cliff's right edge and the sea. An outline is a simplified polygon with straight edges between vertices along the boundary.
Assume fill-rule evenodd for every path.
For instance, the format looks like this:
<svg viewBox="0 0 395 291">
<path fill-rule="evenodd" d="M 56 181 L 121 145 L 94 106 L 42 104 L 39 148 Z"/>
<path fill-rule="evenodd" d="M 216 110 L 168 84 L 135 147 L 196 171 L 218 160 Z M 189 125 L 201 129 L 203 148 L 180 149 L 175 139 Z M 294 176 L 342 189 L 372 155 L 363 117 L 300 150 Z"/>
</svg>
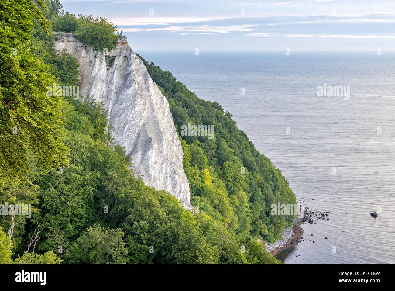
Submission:
<svg viewBox="0 0 395 291">
<path fill-rule="evenodd" d="M 256 150 L 220 104 L 199 99 L 170 72 L 140 58 L 167 97 L 178 132 L 188 123 L 214 128 L 213 139 L 181 136 L 192 205 L 243 236 L 279 239 L 295 215 L 270 215 L 270 206 L 296 204 L 281 171 Z"/>
</svg>

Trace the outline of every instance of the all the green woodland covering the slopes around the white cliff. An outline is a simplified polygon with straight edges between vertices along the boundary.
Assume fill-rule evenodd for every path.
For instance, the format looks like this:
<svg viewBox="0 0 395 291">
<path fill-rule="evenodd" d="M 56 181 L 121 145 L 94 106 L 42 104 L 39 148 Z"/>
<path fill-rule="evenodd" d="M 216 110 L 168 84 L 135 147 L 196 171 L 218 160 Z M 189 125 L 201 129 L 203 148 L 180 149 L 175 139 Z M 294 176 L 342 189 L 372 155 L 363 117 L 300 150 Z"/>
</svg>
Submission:
<svg viewBox="0 0 395 291">
<path fill-rule="evenodd" d="M 280 238 L 293 216 L 270 215 L 270 205 L 295 196 L 231 114 L 143 59 L 178 131 L 214 128 L 213 139 L 180 136 L 195 207 L 186 210 L 128 169 L 101 103 L 48 96 L 48 85 L 76 86 L 80 75 L 75 57 L 54 51 L 51 30 L 77 32 L 95 50 L 118 36 L 58 0 L 2 1 L 0 204 L 32 205 L 32 214 L 0 215 L 0 263 L 280 263 L 258 238 Z"/>
</svg>

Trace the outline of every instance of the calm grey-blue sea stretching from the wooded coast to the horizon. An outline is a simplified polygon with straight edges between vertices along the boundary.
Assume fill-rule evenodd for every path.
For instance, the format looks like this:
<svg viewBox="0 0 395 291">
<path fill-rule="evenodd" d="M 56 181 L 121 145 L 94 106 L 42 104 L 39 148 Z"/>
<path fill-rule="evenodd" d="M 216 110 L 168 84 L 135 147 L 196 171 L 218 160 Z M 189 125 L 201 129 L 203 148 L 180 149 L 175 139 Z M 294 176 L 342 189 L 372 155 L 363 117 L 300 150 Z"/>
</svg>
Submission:
<svg viewBox="0 0 395 291">
<path fill-rule="evenodd" d="M 395 54 L 138 53 L 230 111 L 297 199 L 331 212 L 303 225 L 314 244 L 305 239 L 281 259 L 395 263 Z M 324 83 L 350 86 L 349 100 L 318 97 Z"/>
</svg>

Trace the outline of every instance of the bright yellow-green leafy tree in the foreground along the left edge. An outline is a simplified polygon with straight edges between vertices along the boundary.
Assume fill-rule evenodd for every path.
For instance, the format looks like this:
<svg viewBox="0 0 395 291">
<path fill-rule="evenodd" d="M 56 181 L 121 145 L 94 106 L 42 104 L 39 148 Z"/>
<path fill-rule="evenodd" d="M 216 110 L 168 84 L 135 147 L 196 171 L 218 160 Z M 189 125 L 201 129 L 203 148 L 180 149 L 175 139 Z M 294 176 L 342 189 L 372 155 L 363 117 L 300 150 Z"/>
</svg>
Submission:
<svg viewBox="0 0 395 291">
<path fill-rule="evenodd" d="M 43 1 L 38 1 L 43 5 Z M 14 17 L 13 15 L 18 15 Z M 55 80 L 48 66 L 32 53 L 34 23 L 44 30 L 49 22 L 32 1 L 2 1 L 0 12 L 0 183 L 20 178 L 29 153 L 46 170 L 67 163 L 62 142 L 61 100 L 47 96 Z"/>
</svg>

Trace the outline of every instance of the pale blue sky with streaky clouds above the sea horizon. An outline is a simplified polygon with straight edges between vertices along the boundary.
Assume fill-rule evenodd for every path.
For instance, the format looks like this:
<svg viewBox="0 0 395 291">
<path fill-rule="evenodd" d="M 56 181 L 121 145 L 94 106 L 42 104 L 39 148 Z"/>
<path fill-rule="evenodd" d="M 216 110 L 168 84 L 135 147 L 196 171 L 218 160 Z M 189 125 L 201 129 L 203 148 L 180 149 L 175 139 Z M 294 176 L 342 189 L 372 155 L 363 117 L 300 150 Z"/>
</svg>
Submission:
<svg viewBox="0 0 395 291">
<path fill-rule="evenodd" d="M 135 51 L 395 51 L 395 0 L 61 0 Z"/>
</svg>

